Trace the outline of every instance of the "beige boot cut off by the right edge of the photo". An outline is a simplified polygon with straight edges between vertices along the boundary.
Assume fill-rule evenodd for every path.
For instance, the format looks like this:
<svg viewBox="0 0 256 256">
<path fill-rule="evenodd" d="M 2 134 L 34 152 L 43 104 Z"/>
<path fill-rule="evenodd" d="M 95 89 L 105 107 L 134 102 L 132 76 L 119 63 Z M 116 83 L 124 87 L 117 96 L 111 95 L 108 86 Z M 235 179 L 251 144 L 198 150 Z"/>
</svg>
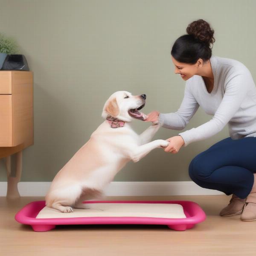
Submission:
<svg viewBox="0 0 256 256">
<path fill-rule="evenodd" d="M 254 173 L 253 188 L 245 201 L 244 210 L 241 215 L 241 220 L 256 221 L 256 173 Z"/>
</svg>

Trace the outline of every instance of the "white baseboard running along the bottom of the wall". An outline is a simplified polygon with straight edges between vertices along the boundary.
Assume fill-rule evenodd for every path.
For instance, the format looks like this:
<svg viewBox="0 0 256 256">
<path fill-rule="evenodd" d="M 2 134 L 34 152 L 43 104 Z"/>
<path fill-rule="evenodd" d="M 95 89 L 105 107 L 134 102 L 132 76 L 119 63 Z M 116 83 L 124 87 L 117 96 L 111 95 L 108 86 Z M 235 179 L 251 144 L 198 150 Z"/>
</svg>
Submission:
<svg viewBox="0 0 256 256">
<path fill-rule="evenodd" d="M 20 182 L 20 196 L 45 196 L 51 182 Z M 6 196 L 7 182 L 0 182 L 0 196 Z M 204 189 L 193 181 L 113 181 L 104 190 L 106 196 L 154 195 L 225 195 L 223 192 Z"/>
</svg>

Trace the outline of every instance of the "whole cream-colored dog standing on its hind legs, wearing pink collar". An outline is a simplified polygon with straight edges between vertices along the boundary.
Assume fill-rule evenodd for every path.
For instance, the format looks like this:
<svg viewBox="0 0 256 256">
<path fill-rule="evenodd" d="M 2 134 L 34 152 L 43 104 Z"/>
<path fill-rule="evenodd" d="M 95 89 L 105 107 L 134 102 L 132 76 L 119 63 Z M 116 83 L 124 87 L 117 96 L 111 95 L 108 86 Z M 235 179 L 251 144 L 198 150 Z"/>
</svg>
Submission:
<svg viewBox="0 0 256 256">
<path fill-rule="evenodd" d="M 104 187 L 128 161 L 137 162 L 152 149 L 169 145 L 166 140 L 151 141 L 160 128 L 157 123 L 140 135 L 131 128 L 133 118 L 146 118 L 139 111 L 145 99 L 145 94 L 133 96 L 127 91 L 109 97 L 102 112 L 106 120 L 54 177 L 45 198 L 47 207 L 61 212 L 87 209 L 82 202 L 101 198 Z"/>
</svg>

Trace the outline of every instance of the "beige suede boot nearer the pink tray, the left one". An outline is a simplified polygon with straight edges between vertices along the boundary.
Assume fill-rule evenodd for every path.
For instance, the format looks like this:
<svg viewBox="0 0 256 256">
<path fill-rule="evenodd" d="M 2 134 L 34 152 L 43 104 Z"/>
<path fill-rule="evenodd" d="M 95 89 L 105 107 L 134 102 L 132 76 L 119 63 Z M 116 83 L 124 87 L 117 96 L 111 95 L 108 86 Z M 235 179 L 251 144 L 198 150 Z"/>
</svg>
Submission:
<svg viewBox="0 0 256 256">
<path fill-rule="evenodd" d="M 220 215 L 221 217 L 228 217 L 241 214 L 244 209 L 244 203 L 246 198 L 241 199 L 236 195 L 232 195 L 230 199 L 230 203 L 221 210 Z"/>
</svg>

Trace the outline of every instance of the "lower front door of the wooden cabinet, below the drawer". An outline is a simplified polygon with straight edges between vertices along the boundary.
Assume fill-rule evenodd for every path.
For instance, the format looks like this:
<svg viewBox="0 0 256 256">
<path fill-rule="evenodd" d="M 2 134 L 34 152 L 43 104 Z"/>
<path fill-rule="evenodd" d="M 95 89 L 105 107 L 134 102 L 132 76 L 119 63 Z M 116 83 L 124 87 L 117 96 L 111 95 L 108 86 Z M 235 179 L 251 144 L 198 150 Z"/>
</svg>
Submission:
<svg viewBox="0 0 256 256">
<path fill-rule="evenodd" d="M 0 147 L 12 146 L 12 95 L 0 94 Z"/>
</svg>

